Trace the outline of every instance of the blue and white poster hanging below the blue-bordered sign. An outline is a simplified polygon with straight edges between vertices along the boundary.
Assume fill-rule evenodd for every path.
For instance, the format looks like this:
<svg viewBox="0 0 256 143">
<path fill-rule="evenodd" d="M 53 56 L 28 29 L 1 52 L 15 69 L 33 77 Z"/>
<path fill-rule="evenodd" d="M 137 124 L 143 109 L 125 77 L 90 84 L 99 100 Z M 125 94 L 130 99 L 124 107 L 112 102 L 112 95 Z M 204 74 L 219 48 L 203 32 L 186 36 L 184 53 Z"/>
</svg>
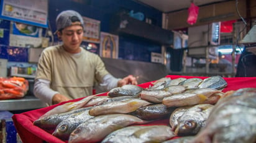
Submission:
<svg viewBox="0 0 256 143">
<path fill-rule="evenodd" d="M 37 48 L 42 46 L 42 28 L 11 22 L 9 46 Z"/>
</svg>

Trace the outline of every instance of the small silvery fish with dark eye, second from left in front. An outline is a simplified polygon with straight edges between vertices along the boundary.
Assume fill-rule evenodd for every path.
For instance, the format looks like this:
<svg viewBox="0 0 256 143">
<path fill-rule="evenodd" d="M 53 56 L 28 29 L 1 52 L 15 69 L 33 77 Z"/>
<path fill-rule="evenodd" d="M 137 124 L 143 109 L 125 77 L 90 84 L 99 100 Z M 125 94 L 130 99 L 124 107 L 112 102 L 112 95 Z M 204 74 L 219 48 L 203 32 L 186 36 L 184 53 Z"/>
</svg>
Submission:
<svg viewBox="0 0 256 143">
<path fill-rule="evenodd" d="M 58 124 L 52 135 L 58 137 L 59 139 L 62 139 L 63 141 L 68 140 L 68 137 L 70 137 L 71 132 L 73 132 L 78 125 L 94 117 L 89 115 L 90 109 L 91 107 L 89 107 L 87 110 L 83 112 L 76 113 L 64 119 L 62 122 Z"/>
</svg>

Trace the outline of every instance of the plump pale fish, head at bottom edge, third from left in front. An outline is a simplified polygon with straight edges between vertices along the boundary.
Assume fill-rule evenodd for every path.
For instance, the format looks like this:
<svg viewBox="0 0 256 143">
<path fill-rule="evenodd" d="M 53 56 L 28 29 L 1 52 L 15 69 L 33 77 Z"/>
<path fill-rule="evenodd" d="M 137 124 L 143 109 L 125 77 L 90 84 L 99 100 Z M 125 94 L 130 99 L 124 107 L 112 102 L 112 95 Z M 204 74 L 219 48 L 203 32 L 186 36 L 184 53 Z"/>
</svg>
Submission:
<svg viewBox="0 0 256 143">
<path fill-rule="evenodd" d="M 112 114 L 96 116 L 80 124 L 71 132 L 68 142 L 99 142 L 117 129 L 124 128 L 130 124 L 144 123 L 148 122 L 132 115 Z"/>
</svg>

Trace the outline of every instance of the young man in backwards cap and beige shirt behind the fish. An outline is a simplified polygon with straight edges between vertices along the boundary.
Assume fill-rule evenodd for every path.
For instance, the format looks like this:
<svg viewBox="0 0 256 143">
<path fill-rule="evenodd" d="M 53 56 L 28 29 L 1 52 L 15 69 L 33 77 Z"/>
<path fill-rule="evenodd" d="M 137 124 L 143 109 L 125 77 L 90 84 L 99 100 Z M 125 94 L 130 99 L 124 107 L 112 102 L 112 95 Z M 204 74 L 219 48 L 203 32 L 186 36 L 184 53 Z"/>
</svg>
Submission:
<svg viewBox="0 0 256 143">
<path fill-rule="evenodd" d="M 78 12 L 63 11 L 56 23 L 57 35 L 63 44 L 43 50 L 35 77 L 35 97 L 52 105 L 92 95 L 94 80 L 106 90 L 137 84 L 133 76 L 113 77 L 97 54 L 80 47 L 84 23 Z"/>
</svg>

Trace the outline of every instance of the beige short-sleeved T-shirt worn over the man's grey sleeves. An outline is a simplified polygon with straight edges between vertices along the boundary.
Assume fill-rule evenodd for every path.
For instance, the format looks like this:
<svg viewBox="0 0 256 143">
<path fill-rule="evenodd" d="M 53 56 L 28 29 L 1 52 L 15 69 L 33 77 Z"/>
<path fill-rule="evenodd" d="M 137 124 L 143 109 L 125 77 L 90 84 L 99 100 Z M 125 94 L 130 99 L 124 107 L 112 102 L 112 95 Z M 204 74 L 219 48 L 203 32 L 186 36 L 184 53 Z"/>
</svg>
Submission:
<svg viewBox="0 0 256 143">
<path fill-rule="evenodd" d="M 97 54 L 81 49 L 79 54 L 67 53 L 61 45 L 43 50 L 35 80 L 49 80 L 50 89 L 72 99 L 91 95 L 94 80 L 101 83 L 109 72 Z"/>
</svg>

